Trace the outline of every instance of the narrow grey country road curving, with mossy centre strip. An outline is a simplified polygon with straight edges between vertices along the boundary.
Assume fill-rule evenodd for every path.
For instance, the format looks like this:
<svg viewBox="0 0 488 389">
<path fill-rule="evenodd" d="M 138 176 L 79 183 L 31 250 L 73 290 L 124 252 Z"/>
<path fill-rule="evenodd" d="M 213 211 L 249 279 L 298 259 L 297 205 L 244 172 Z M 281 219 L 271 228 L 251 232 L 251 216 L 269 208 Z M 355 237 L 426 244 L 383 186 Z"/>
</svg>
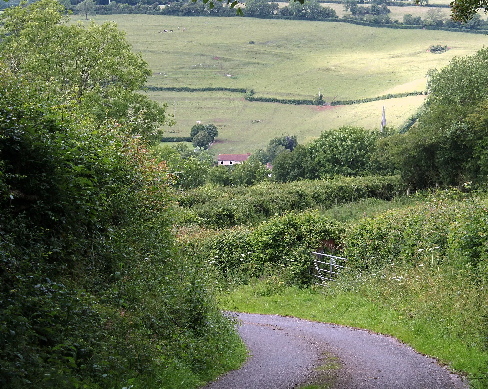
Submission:
<svg viewBox="0 0 488 389">
<path fill-rule="evenodd" d="M 465 388 L 435 359 L 389 336 L 278 315 L 237 315 L 252 356 L 205 389 Z"/>
</svg>

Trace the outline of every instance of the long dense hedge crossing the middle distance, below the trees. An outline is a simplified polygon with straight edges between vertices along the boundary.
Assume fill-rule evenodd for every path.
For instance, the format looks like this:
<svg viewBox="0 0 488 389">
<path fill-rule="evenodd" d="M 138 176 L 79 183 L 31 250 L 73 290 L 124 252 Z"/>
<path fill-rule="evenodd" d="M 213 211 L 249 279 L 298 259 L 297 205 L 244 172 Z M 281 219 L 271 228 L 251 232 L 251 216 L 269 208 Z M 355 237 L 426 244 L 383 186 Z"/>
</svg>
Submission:
<svg viewBox="0 0 488 389">
<path fill-rule="evenodd" d="M 285 211 L 330 208 L 366 197 L 389 200 L 403 192 L 399 176 L 338 177 L 249 187 L 207 185 L 182 194 L 180 206 L 187 213 L 180 223 L 209 228 L 249 225 Z"/>
</svg>

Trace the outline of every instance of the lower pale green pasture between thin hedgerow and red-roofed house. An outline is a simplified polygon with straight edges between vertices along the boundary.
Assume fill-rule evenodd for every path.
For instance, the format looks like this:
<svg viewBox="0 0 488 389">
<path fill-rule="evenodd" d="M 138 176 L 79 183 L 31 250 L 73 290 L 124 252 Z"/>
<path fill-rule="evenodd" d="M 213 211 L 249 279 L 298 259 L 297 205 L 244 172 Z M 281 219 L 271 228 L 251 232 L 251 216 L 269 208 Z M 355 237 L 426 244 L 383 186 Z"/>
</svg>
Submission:
<svg viewBox="0 0 488 389">
<path fill-rule="evenodd" d="M 244 94 L 231 92 L 149 92 L 159 102 L 168 102 L 176 124 L 164 136 L 189 136 L 190 127 L 201 120 L 214 123 L 219 136 L 212 146 L 216 153 L 247 153 L 264 148 L 271 138 L 296 134 L 307 142 L 329 128 L 341 125 L 380 127 L 383 101 L 335 107 L 290 105 L 245 101 Z M 425 96 L 385 100 L 386 122 L 400 126 L 422 104 Z M 175 104 L 176 101 L 176 104 Z"/>
</svg>

